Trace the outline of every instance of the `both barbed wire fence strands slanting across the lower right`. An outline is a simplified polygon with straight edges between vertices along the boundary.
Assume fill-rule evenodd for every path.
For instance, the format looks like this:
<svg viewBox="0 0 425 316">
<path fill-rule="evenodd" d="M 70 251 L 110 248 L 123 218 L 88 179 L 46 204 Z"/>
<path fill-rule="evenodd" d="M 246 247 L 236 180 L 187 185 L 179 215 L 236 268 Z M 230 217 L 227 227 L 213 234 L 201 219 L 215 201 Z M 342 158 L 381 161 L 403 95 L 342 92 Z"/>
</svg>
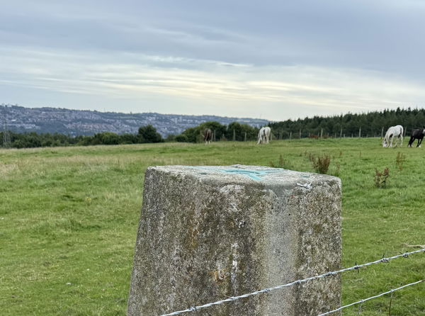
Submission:
<svg viewBox="0 0 425 316">
<path fill-rule="evenodd" d="M 286 288 L 288 286 L 293 286 L 295 284 L 305 283 L 307 281 L 312 281 L 312 280 L 315 280 L 315 279 L 318 279 L 318 278 L 326 278 L 328 276 L 335 276 L 335 275 L 337 275 L 339 273 L 343 273 L 343 272 L 346 272 L 346 271 L 353 271 L 353 270 L 357 270 L 358 271 L 358 269 L 364 268 L 366 266 L 371 266 L 373 264 L 388 263 L 392 259 L 397 259 L 397 258 L 400 258 L 400 257 L 408 258 L 409 255 L 411 255 L 411 254 L 417 254 L 419 252 L 424 252 L 425 253 L 425 248 L 419 249 L 419 250 L 415 250 L 413 252 L 404 252 L 403 254 L 397 254 L 395 256 L 382 257 L 382 259 L 371 261 L 371 262 L 368 262 L 368 263 L 365 263 L 365 264 L 356 264 L 355 266 L 351 266 L 349 268 L 345 268 L 345 269 L 341 269 L 341 270 L 336 270 L 336 271 L 331 271 L 331 272 L 323 273 L 323 274 L 320 274 L 319 276 L 312 276 L 310 278 L 303 278 L 303 279 L 296 280 L 296 281 L 293 281 L 293 282 L 290 282 L 290 283 L 282 284 L 280 286 L 273 286 L 271 288 L 263 288 L 262 290 L 256 290 L 255 292 L 252 292 L 252 293 L 246 293 L 244 295 L 239 295 L 239 296 L 232 296 L 231 298 L 227 298 L 225 300 L 218 300 L 218 301 L 213 302 L 213 303 L 207 303 L 207 304 L 199 305 L 199 306 L 192 306 L 192 307 L 188 307 L 186 310 L 179 310 L 179 311 L 176 311 L 176 312 L 171 312 L 169 314 L 163 314 L 163 315 L 160 315 L 160 316 L 172 316 L 172 315 L 181 315 L 181 314 L 183 314 L 185 312 L 196 312 L 196 311 L 198 311 L 200 309 L 203 309 L 203 308 L 212 307 L 214 305 L 220 305 L 220 304 L 227 303 L 227 302 L 232 302 L 234 300 L 239 300 L 241 298 L 248 298 L 248 297 L 253 296 L 253 295 L 259 295 L 259 294 L 263 294 L 263 293 L 268 293 L 268 292 L 270 292 L 272 290 L 278 290 L 280 288 Z M 412 286 L 412 285 L 415 285 L 417 283 L 421 283 L 422 281 L 423 280 L 417 281 L 417 282 L 414 282 L 414 283 L 407 284 L 407 285 L 402 286 L 400 288 L 395 288 L 395 289 L 390 290 L 388 292 L 381 293 L 380 295 L 375 295 L 375 296 L 372 296 L 370 298 L 366 298 L 366 299 L 360 300 L 360 301 L 358 301 L 356 303 L 351 303 L 350 305 L 339 307 L 336 310 L 331 310 L 329 312 L 325 312 L 324 314 L 321 314 L 321 315 L 328 315 L 328 314 L 330 314 L 332 312 L 337 312 L 337 311 L 339 311 L 339 310 L 341 310 L 343 308 L 349 307 L 351 305 L 356 305 L 358 303 L 365 302 L 366 300 L 370 300 L 372 298 L 378 298 L 378 297 L 380 297 L 382 295 L 385 295 L 387 293 L 392 293 L 395 290 L 399 290 L 399 289 L 405 288 L 407 286 Z M 318 315 L 318 316 L 321 316 L 321 315 Z"/>
</svg>

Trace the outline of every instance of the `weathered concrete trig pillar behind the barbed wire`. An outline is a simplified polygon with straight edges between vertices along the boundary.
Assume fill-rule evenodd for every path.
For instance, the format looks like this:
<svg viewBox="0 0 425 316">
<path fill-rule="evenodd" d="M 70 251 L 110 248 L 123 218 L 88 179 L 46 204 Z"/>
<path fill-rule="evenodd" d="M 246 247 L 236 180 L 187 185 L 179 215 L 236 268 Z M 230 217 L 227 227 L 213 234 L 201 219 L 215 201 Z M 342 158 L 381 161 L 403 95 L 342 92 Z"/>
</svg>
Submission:
<svg viewBox="0 0 425 316">
<path fill-rule="evenodd" d="M 128 315 L 185 310 L 340 265 L 338 178 L 241 165 L 150 167 Z M 340 277 L 329 276 L 193 314 L 307 316 L 340 303 Z"/>
</svg>

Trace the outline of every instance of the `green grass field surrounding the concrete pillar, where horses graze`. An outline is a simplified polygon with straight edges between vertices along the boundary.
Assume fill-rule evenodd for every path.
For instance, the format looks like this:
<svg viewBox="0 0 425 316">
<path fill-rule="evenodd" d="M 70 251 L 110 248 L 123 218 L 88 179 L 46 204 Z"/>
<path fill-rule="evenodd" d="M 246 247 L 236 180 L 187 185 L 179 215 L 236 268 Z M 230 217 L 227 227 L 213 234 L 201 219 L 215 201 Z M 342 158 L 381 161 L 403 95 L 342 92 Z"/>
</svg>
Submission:
<svg viewBox="0 0 425 316">
<path fill-rule="evenodd" d="M 313 171 L 309 154 L 323 153 L 342 180 L 344 267 L 425 244 L 425 149 L 385 149 L 378 138 L 0 149 L 0 315 L 125 315 L 148 166 Z M 385 167 L 387 186 L 375 188 Z M 347 272 L 343 303 L 421 278 L 424 254 Z M 390 295 L 370 300 L 361 315 L 388 315 L 389 304 Z M 425 284 L 393 293 L 392 315 L 425 315 Z"/>
</svg>

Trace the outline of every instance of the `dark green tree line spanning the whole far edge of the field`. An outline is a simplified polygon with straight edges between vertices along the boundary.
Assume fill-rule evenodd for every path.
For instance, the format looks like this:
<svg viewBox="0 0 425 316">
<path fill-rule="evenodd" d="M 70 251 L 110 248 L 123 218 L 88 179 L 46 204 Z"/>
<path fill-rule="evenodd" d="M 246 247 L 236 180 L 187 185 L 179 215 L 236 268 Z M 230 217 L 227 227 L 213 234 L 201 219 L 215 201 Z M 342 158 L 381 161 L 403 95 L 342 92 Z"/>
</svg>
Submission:
<svg viewBox="0 0 425 316">
<path fill-rule="evenodd" d="M 409 135 L 414 128 L 425 125 L 424 109 L 401 109 L 374 111 L 370 113 L 347 113 L 329 117 L 313 116 L 297 120 L 269 123 L 273 138 L 288 139 L 302 137 L 380 137 L 390 126 L 403 125 Z M 222 125 L 210 121 L 188 128 L 179 135 L 169 135 L 165 139 L 152 125 L 142 126 L 137 134 L 116 134 L 99 132 L 93 136 L 71 137 L 58 133 L 38 134 L 36 132 L 0 132 L 0 147 L 55 147 L 72 145 L 120 145 L 149 142 L 202 142 L 203 131 L 212 131 L 212 140 L 249 141 L 256 140 L 259 128 L 238 122 Z M 7 139 L 8 144 L 4 144 Z"/>
</svg>

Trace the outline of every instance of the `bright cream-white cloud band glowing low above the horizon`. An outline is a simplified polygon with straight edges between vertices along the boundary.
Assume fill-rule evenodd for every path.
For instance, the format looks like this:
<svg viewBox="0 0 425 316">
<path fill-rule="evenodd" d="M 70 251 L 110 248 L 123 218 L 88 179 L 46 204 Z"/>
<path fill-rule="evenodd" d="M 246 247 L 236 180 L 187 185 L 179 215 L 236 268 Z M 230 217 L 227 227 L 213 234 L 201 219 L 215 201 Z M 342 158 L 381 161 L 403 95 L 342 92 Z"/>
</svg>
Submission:
<svg viewBox="0 0 425 316">
<path fill-rule="evenodd" d="M 6 52 L 0 50 L 1 55 L 8 55 Z M 286 113 L 294 116 L 294 106 L 306 108 L 302 115 L 317 115 L 417 104 L 425 97 L 421 84 L 382 72 L 309 66 L 229 66 L 212 60 L 149 55 L 138 55 L 135 63 L 115 60 L 125 57 L 26 51 L 6 57 L 2 77 L 8 79 L 0 81 L 23 89 L 86 94 L 110 101 L 162 98 L 172 103 L 178 98 L 191 104 L 215 103 L 215 113 L 227 113 L 229 107 L 240 111 L 238 104 L 246 104 L 252 107 L 246 111 L 254 115 L 255 105 L 261 104 L 276 108 L 280 119 L 285 119 L 285 108 L 292 108 Z M 193 62 L 196 69 L 184 66 Z M 174 67 L 158 65 L 169 63 Z M 182 66 L 175 67 L 176 64 Z M 276 120 L 278 116 L 268 114 L 266 118 Z"/>
</svg>

